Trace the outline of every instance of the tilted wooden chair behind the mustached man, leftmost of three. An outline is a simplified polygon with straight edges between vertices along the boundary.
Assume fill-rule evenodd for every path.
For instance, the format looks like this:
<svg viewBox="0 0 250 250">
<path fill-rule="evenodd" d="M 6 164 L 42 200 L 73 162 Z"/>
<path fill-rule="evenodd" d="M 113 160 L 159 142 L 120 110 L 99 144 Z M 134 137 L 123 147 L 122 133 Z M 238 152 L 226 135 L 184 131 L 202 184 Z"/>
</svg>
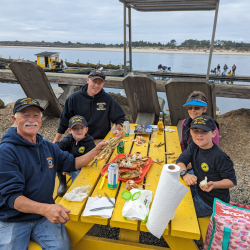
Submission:
<svg viewBox="0 0 250 250">
<path fill-rule="evenodd" d="M 42 102 L 45 115 L 60 116 L 62 107 L 41 67 L 36 63 L 24 60 L 13 61 L 9 67 L 26 96 L 39 100 L 40 104 Z"/>
</svg>

